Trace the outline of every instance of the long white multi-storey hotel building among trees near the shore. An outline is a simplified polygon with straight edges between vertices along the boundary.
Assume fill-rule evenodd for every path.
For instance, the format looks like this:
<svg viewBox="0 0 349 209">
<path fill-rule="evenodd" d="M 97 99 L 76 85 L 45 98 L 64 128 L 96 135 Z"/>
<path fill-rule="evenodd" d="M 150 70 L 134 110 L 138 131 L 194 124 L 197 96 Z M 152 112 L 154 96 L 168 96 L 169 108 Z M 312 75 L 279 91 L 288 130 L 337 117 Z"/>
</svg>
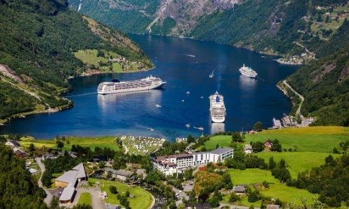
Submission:
<svg viewBox="0 0 349 209">
<path fill-rule="evenodd" d="M 232 157 L 233 154 L 232 148 L 217 148 L 211 152 L 154 157 L 151 161 L 154 169 L 158 169 L 167 176 L 177 173 L 177 171 L 183 171 L 188 167 L 198 167 L 209 162 L 216 163 L 218 160 L 224 162 L 225 158 Z"/>
</svg>

